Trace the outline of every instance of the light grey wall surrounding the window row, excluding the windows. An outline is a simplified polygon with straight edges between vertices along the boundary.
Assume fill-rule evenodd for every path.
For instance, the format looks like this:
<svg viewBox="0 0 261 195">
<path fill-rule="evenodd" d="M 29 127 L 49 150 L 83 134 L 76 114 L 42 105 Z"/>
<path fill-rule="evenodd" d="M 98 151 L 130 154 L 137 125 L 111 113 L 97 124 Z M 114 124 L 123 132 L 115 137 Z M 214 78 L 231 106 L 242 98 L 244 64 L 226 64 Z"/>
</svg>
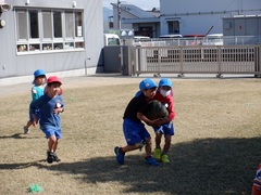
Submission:
<svg viewBox="0 0 261 195">
<path fill-rule="evenodd" d="M 102 0 L 77 0 L 75 8 L 73 8 L 72 2 L 72 0 L 32 0 L 29 1 L 29 4 L 26 5 L 25 1 L 22 0 L 5 0 L 5 3 L 12 4 L 12 9 L 2 12 L 0 16 L 1 20 L 7 22 L 7 25 L 3 28 L 0 28 L 0 78 L 32 75 L 37 68 L 42 68 L 46 73 L 53 73 L 80 69 L 85 67 L 85 64 L 87 64 L 89 68 L 97 67 L 97 70 L 102 67 Z M 16 21 L 14 12 L 17 8 L 35 8 L 36 10 L 44 8 L 62 10 L 75 9 L 84 11 L 84 49 L 46 53 L 17 52 Z"/>
</svg>

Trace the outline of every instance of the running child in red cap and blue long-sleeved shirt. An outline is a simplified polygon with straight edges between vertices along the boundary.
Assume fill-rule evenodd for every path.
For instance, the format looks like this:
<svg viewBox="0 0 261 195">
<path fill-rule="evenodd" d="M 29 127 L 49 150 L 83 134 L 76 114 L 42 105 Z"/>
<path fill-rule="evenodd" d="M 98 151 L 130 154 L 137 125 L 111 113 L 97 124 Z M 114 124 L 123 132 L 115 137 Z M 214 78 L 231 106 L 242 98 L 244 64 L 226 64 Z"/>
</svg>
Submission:
<svg viewBox="0 0 261 195">
<path fill-rule="evenodd" d="M 35 112 L 40 109 L 40 129 L 48 139 L 47 161 L 60 161 L 57 156 L 59 139 L 61 139 L 60 113 L 64 110 L 64 103 L 60 93 L 62 82 L 57 76 L 47 79 L 46 93 L 30 103 L 30 114 L 33 114 L 33 126 L 38 122 Z"/>
</svg>

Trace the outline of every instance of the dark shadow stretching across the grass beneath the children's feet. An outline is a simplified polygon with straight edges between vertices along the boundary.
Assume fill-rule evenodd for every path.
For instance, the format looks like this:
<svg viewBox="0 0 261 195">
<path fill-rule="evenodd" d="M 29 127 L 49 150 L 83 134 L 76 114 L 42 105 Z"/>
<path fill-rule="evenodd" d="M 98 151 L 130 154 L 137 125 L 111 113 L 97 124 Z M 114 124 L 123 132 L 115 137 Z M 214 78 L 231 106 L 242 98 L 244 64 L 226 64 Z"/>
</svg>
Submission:
<svg viewBox="0 0 261 195">
<path fill-rule="evenodd" d="M 203 139 L 174 144 L 171 164 L 160 167 L 146 165 L 144 152 L 133 152 L 126 155 L 124 166 L 119 166 L 113 155 L 51 166 L 40 161 L 0 165 L 0 169 L 37 166 L 80 174 L 89 183 L 115 181 L 128 186 L 123 193 L 250 194 L 260 148 L 261 138 Z"/>
</svg>

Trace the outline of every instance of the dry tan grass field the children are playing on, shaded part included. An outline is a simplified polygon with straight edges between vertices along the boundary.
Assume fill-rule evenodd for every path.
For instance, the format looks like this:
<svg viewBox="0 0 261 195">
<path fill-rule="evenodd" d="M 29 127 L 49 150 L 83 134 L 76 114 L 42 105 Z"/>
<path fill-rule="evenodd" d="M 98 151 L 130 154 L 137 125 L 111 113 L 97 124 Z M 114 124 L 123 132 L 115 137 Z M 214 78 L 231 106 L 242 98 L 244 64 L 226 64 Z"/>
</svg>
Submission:
<svg viewBox="0 0 261 195">
<path fill-rule="evenodd" d="M 62 162 L 52 165 L 45 161 L 44 133 L 22 133 L 29 94 L 0 98 L 0 194 L 26 194 L 33 183 L 48 195 L 250 194 L 261 157 L 260 80 L 173 79 L 171 164 L 150 167 L 144 151 L 135 151 L 119 166 L 113 148 L 125 144 L 122 116 L 139 81 L 64 84 Z"/>
</svg>

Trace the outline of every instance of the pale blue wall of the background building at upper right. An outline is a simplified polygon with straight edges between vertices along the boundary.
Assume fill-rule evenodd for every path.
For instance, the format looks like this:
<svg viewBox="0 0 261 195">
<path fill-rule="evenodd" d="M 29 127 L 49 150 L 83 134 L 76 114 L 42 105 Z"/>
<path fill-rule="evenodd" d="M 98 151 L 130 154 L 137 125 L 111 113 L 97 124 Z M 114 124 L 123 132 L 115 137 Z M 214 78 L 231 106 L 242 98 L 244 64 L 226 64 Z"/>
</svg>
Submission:
<svg viewBox="0 0 261 195">
<path fill-rule="evenodd" d="M 261 14 L 260 0 L 161 0 L 161 35 L 167 34 L 167 21 L 179 21 L 179 34 L 222 32 L 222 18 Z"/>
</svg>

